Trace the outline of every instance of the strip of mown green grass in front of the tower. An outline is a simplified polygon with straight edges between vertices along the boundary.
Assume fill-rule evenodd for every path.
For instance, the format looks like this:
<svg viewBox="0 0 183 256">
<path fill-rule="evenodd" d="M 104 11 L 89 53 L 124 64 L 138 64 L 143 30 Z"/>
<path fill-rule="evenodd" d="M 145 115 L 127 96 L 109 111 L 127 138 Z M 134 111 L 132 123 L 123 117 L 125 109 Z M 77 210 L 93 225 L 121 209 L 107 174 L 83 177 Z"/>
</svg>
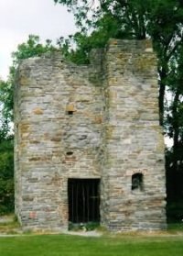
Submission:
<svg viewBox="0 0 183 256">
<path fill-rule="evenodd" d="M 1 256 L 182 256 L 182 236 L 86 238 L 31 235 L 0 238 Z"/>
</svg>

